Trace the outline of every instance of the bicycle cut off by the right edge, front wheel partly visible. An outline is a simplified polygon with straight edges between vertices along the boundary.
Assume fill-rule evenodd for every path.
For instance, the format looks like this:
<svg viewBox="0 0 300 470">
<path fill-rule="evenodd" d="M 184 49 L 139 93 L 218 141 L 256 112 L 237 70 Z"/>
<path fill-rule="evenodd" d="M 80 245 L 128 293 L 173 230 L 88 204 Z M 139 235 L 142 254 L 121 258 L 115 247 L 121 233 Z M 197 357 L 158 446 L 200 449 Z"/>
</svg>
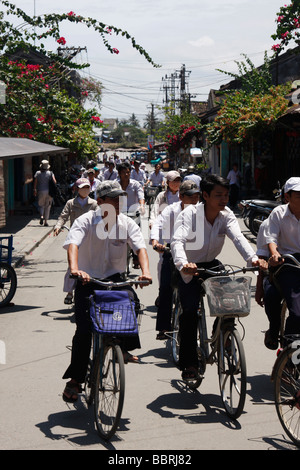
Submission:
<svg viewBox="0 0 300 470">
<path fill-rule="evenodd" d="M 294 264 L 282 264 L 274 273 L 275 279 L 287 266 L 300 268 L 300 262 L 293 255 L 283 255 L 283 258 Z M 283 349 L 278 351 L 271 379 L 274 382 L 275 408 L 279 421 L 289 438 L 300 447 L 300 335 L 284 334 L 286 310 L 283 300 L 279 335 Z"/>
</svg>

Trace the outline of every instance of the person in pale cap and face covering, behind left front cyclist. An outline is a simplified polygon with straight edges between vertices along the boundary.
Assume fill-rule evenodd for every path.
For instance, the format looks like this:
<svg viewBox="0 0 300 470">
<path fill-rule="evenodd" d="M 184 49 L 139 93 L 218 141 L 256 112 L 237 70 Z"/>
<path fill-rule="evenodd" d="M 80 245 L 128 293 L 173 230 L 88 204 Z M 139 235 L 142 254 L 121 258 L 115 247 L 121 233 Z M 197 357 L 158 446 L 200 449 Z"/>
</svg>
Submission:
<svg viewBox="0 0 300 470">
<path fill-rule="evenodd" d="M 54 227 L 54 236 L 62 231 L 62 227 L 70 220 L 70 226 L 72 227 L 74 221 L 82 214 L 90 210 L 96 210 L 98 207 L 97 201 L 89 197 L 91 186 L 90 181 L 87 178 L 79 178 L 75 186 L 78 194 L 75 198 L 69 199 L 63 208 L 56 225 Z M 67 292 L 64 303 L 71 304 L 73 302 L 73 290 L 75 281 L 70 279 L 70 270 L 68 269 L 65 274 L 63 292 Z"/>
</svg>

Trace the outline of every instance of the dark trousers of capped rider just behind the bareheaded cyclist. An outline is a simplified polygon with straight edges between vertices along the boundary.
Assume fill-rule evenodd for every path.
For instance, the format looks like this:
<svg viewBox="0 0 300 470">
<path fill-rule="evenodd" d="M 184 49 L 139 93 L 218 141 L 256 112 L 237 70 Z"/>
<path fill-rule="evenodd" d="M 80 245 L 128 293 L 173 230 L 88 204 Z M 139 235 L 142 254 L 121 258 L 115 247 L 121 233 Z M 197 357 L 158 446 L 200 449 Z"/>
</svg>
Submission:
<svg viewBox="0 0 300 470">
<path fill-rule="evenodd" d="M 163 253 L 160 271 L 159 306 L 156 317 L 157 331 L 171 330 L 173 298 L 172 273 L 174 269 L 171 253 Z"/>
</svg>

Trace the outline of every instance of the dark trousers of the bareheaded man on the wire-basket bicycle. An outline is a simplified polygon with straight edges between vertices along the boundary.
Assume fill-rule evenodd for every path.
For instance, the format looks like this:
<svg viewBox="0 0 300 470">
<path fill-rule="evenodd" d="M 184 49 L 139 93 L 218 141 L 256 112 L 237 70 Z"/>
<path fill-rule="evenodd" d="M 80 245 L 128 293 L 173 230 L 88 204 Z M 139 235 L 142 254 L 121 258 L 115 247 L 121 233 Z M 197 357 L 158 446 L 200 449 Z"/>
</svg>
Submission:
<svg viewBox="0 0 300 470">
<path fill-rule="evenodd" d="M 210 263 L 198 264 L 198 267 L 207 269 L 222 266 L 218 260 Z M 203 280 L 209 276 L 201 276 Z M 179 317 L 179 368 L 184 370 L 187 367 L 198 367 L 197 355 L 197 310 L 201 296 L 201 281 L 197 277 L 186 284 L 181 276 L 178 280 L 179 299 L 182 306 L 182 314 Z"/>
</svg>

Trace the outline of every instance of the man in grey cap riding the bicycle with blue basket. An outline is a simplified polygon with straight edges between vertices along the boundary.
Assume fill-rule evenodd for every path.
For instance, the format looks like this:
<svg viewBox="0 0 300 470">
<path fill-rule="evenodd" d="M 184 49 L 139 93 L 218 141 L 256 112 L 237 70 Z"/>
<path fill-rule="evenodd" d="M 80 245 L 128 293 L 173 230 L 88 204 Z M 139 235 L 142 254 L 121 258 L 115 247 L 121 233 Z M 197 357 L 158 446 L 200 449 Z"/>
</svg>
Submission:
<svg viewBox="0 0 300 470">
<path fill-rule="evenodd" d="M 74 402 L 85 380 L 90 348 L 91 321 L 88 297 L 97 285 L 89 282 L 90 276 L 101 280 L 118 282 L 126 270 L 127 243 L 136 252 L 142 275 L 139 280 L 151 281 L 145 241 L 138 225 L 120 213 L 119 198 L 126 196 L 117 181 L 104 181 L 97 188 L 99 208 L 75 220 L 64 248 L 72 275 L 80 276 L 75 289 L 76 332 L 72 343 L 71 364 L 63 378 L 71 379 L 64 390 L 63 399 Z M 129 289 L 129 288 L 127 288 Z M 129 295 L 137 296 L 133 289 Z M 128 353 L 140 347 L 138 336 L 126 337 L 122 344 L 126 362 L 138 362 Z"/>
</svg>

